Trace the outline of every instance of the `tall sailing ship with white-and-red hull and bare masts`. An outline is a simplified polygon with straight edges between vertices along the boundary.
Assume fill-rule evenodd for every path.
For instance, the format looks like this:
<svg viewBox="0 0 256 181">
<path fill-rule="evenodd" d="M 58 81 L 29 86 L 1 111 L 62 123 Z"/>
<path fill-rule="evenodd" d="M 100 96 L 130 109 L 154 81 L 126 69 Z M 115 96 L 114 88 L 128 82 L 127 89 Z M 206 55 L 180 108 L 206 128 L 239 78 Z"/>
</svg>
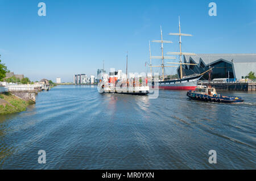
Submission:
<svg viewBox="0 0 256 181">
<path fill-rule="evenodd" d="M 152 86 L 158 86 L 159 89 L 166 89 L 166 90 L 195 90 L 197 87 L 197 81 L 205 74 L 207 71 L 201 74 L 193 74 L 193 75 L 184 75 L 183 74 L 183 65 L 197 65 L 197 64 L 187 64 L 183 61 L 182 56 L 183 55 L 196 55 L 195 53 L 184 53 L 181 51 L 181 36 L 192 36 L 191 34 L 187 33 L 181 33 L 180 30 L 180 17 L 179 17 L 179 33 L 169 33 L 169 35 L 179 36 L 179 52 L 167 52 L 167 54 L 170 55 L 179 55 L 179 62 L 166 62 L 164 64 L 164 60 L 170 60 L 170 59 L 176 59 L 176 57 L 170 57 L 170 56 L 164 56 L 163 53 L 163 44 L 164 43 L 173 43 L 172 41 L 166 41 L 163 40 L 163 32 L 162 27 L 160 28 L 161 31 L 161 40 L 153 40 L 153 43 L 161 43 L 161 52 L 162 56 L 151 56 L 151 50 L 150 50 L 150 68 L 152 73 L 152 68 L 162 68 L 162 79 L 158 82 L 152 81 Z M 151 59 L 161 59 L 162 65 L 152 65 Z M 164 78 L 164 68 L 179 68 L 179 78 L 178 79 L 165 79 Z"/>
</svg>

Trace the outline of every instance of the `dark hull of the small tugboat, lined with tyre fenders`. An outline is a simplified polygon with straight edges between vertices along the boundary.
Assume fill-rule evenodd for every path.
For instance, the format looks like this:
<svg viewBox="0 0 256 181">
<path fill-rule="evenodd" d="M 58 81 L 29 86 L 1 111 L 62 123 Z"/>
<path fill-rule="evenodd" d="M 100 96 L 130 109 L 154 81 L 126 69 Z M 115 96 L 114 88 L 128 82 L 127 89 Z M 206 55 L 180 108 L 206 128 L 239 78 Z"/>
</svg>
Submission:
<svg viewBox="0 0 256 181">
<path fill-rule="evenodd" d="M 187 92 L 187 96 L 193 100 L 201 100 L 204 102 L 217 102 L 217 103 L 242 103 L 243 100 L 238 97 L 230 96 L 209 96 L 203 94 L 197 94 L 192 91 Z"/>
</svg>

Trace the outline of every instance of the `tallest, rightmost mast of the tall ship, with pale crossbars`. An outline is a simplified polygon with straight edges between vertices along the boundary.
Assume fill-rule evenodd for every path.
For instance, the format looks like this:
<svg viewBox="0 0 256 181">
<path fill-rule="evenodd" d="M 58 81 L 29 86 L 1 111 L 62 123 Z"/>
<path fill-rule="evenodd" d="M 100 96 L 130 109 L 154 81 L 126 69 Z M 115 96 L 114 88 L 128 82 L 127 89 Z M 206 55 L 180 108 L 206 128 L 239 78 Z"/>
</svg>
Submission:
<svg viewBox="0 0 256 181">
<path fill-rule="evenodd" d="M 177 35 L 179 36 L 179 45 L 180 45 L 180 52 L 167 52 L 167 54 L 179 54 L 180 55 L 180 62 L 175 63 L 175 62 L 168 62 L 167 64 L 180 64 L 180 78 L 183 78 L 183 73 L 182 73 L 182 65 L 197 65 L 197 64 L 184 64 L 182 61 L 182 55 L 196 55 L 195 53 L 183 53 L 181 52 L 181 36 L 192 36 L 191 34 L 185 34 L 181 33 L 180 30 L 180 16 L 179 16 L 179 33 L 169 33 L 169 35 Z"/>
</svg>

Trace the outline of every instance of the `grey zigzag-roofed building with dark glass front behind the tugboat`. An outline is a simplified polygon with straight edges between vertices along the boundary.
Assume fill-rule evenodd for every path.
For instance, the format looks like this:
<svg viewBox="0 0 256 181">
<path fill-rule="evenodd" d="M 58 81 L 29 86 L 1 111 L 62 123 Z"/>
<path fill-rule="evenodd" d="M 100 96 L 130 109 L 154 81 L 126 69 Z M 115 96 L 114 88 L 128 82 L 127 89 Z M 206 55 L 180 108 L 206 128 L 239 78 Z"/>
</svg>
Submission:
<svg viewBox="0 0 256 181">
<path fill-rule="evenodd" d="M 242 79 L 250 71 L 256 73 L 256 54 L 197 54 L 196 56 L 184 55 L 183 73 L 185 75 L 200 74 L 214 67 L 212 79 L 234 78 Z M 180 76 L 180 68 L 177 69 Z M 208 79 L 208 74 L 204 74 L 201 79 Z"/>
</svg>

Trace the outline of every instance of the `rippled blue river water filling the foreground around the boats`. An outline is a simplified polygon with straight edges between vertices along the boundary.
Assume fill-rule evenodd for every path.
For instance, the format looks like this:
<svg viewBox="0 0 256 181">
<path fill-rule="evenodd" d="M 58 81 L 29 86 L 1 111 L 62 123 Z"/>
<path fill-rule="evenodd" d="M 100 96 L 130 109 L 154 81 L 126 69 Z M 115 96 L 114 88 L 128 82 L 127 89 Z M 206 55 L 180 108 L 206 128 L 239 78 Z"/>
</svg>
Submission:
<svg viewBox="0 0 256 181">
<path fill-rule="evenodd" d="M 40 92 L 27 111 L 0 116 L 0 169 L 256 169 L 256 92 L 220 92 L 241 96 L 242 104 L 198 102 L 186 93 Z M 39 150 L 46 164 L 38 163 Z"/>
</svg>

